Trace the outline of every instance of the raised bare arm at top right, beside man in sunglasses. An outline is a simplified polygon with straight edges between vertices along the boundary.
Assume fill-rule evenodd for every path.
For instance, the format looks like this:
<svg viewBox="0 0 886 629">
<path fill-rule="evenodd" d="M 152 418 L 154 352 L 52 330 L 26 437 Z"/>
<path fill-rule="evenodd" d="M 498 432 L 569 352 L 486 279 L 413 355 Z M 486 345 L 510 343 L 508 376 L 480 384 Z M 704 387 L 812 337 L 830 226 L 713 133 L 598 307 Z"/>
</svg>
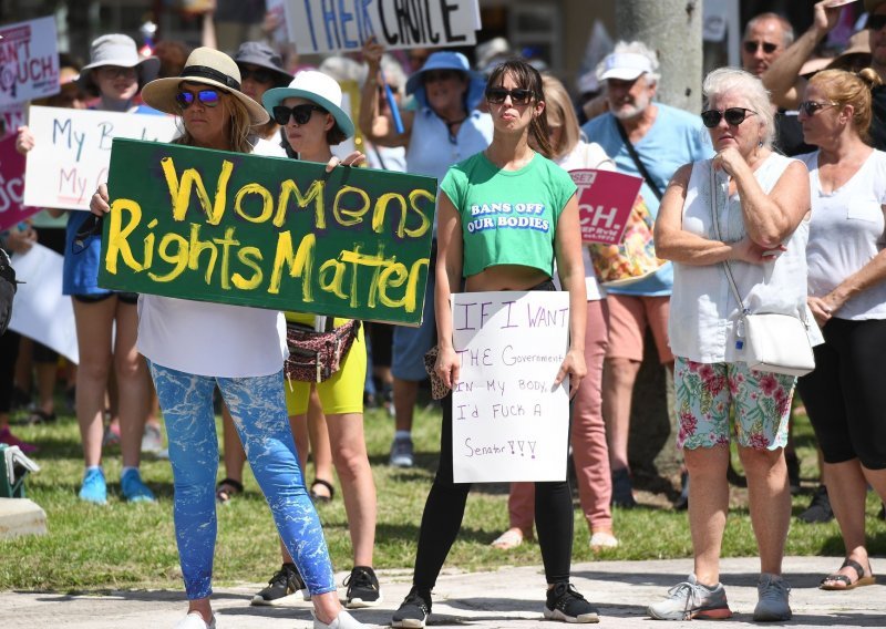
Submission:
<svg viewBox="0 0 886 629">
<path fill-rule="evenodd" d="M 763 85 L 771 92 L 772 102 L 786 110 L 796 109 L 806 87 L 800 69 L 815 47 L 836 25 L 841 8 L 825 7 L 831 0 L 822 0 L 813 9 L 813 22 L 791 47 L 787 48 L 761 76 Z"/>
</svg>

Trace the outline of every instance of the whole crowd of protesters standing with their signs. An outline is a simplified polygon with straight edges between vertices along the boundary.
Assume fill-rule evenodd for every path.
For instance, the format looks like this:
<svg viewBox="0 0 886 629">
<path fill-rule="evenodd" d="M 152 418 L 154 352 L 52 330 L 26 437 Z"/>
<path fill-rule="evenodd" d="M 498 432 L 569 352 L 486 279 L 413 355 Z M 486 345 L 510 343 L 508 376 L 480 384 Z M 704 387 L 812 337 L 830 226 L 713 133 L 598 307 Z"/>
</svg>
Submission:
<svg viewBox="0 0 886 629">
<path fill-rule="evenodd" d="M 409 468 L 430 394 L 439 463 L 412 514 L 412 588 L 391 626 L 425 626 L 472 483 L 502 481 L 509 525 L 492 546 L 536 538 L 544 617 L 598 622 L 594 592 L 570 582 L 571 485 L 594 551 L 631 543 L 614 509 L 638 505 L 631 402 L 651 340 L 673 381 L 673 508 L 687 509 L 694 569 L 648 616 L 732 616 L 719 559 L 738 477 L 760 557 L 753 620 L 792 618 L 782 560 L 797 412 L 821 472 L 799 517 L 835 518 L 845 546 L 820 587 L 874 584 L 865 501 L 873 491 L 886 504 L 886 0 L 858 3 L 856 32 L 825 48 L 843 4 L 815 3 L 803 33 L 776 13 L 751 19 L 741 68 L 707 73 L 699 111 L 658 101 L 659 59 L 643 41 L 615 43 L 578 90 L 502 39 L 472 61 L 391 50 L 362 22 L 356 51 L 306 65 L 275 43 L 284 27 L 270 13 L 230 51 L 209 30 L 193 50 L 105 33 L 83 61 L 58 54 L 52 84 L 30 79 L 34 97 L 0 138 L 3 176 L 18 168 L 30 199 L 0 212 L 0 448 L 39 458 L 13 417 L 74 415 L 78 495 L 100 505 L 112 446 L 128 503 L 163 499 L 140 465 L 168 460 L 188 601 L 178 629 L 217 626 L 216 509 L 245 491 L 248 461 L 281 555 L 253 605 L 296 597 L 317 628 L 363 627 L 351 611 L 383 600 L 373 547 L 385 499 L 364 410 L 385 409 L 388 464 Z M 113 124 L 96 126 L 99 113 Z M 28 282 L 18 295 L 16 277 Z M 51 305 L 52 326 L 28 299 Z M 484 371 L 488 347 L 519 380 Z M 481 380 L 497 398 L 477 392 Z M 494 470 L 480 461 L 507 446 L 465 437 L 459 421 L 483 412 L 513 419 L 509 439 L 532 425 L 563 439 L 537 467 Z M 333 475 L 352 550 L 342 601 L 322 527 Z"/>
</svg>

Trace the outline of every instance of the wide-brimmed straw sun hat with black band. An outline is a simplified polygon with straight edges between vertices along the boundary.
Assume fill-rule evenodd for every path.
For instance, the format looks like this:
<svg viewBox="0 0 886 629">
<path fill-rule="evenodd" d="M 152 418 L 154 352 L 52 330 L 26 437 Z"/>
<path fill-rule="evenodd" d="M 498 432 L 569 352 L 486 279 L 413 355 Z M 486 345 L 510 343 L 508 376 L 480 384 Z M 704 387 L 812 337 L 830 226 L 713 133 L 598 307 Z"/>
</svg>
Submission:
<svg viewBox="0 0 886 629">
<path fill-rule="evenodd" d="M 183 82 L 218 87 L 222 92 L 230 94 L 249 112 L 253 125 L 265 124 L 270 120 L 268 112 L 261 105 L 240 92 L 240 71 L 234 60 L 213 48 L 194 50 L 178 76 L 156 79 L 145 85 L 142 90 L 142 100 L 155 110 L 179 115 L 182 110 L 175 102 L 175 96 Z"/>
</svg>

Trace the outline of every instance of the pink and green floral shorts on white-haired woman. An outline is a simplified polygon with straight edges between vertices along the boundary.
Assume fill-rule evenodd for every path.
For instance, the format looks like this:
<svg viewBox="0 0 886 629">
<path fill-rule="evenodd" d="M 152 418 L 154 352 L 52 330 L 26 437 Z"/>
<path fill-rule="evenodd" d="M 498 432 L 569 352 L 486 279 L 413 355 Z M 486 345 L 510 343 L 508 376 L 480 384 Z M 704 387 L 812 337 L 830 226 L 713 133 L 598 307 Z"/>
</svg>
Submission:
<svg viewBox="0 0 886 629">
<path fill-rule="evenodd" d="M 739 445 L 784 447 L 795 384 L 793 375 L 751 370 L 743 362 L 709 364 L 677 357 L 677 446 L 693 450 L 728 445 L 731 408 Z"/>
</svg>

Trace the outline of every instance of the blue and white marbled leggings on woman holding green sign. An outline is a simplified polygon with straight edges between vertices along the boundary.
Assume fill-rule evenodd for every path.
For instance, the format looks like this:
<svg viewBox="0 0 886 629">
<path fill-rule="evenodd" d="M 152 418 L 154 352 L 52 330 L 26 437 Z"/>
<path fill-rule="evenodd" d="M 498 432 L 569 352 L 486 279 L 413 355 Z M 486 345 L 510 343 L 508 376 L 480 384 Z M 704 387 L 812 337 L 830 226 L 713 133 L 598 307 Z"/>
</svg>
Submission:
<svg viewBox="0 0 886 629">
<path fill-rule="evenodd" d="M 190 600 L 213 592 L 218 436 L 213 390 L 222 391 L 280 538 L 312 595 L 336 590 L 329 551 L 286 414 L 282 371 L 254 378 L 184 373 L 148 361 L 169 437 L 178 556 Z"/>
</svg>

